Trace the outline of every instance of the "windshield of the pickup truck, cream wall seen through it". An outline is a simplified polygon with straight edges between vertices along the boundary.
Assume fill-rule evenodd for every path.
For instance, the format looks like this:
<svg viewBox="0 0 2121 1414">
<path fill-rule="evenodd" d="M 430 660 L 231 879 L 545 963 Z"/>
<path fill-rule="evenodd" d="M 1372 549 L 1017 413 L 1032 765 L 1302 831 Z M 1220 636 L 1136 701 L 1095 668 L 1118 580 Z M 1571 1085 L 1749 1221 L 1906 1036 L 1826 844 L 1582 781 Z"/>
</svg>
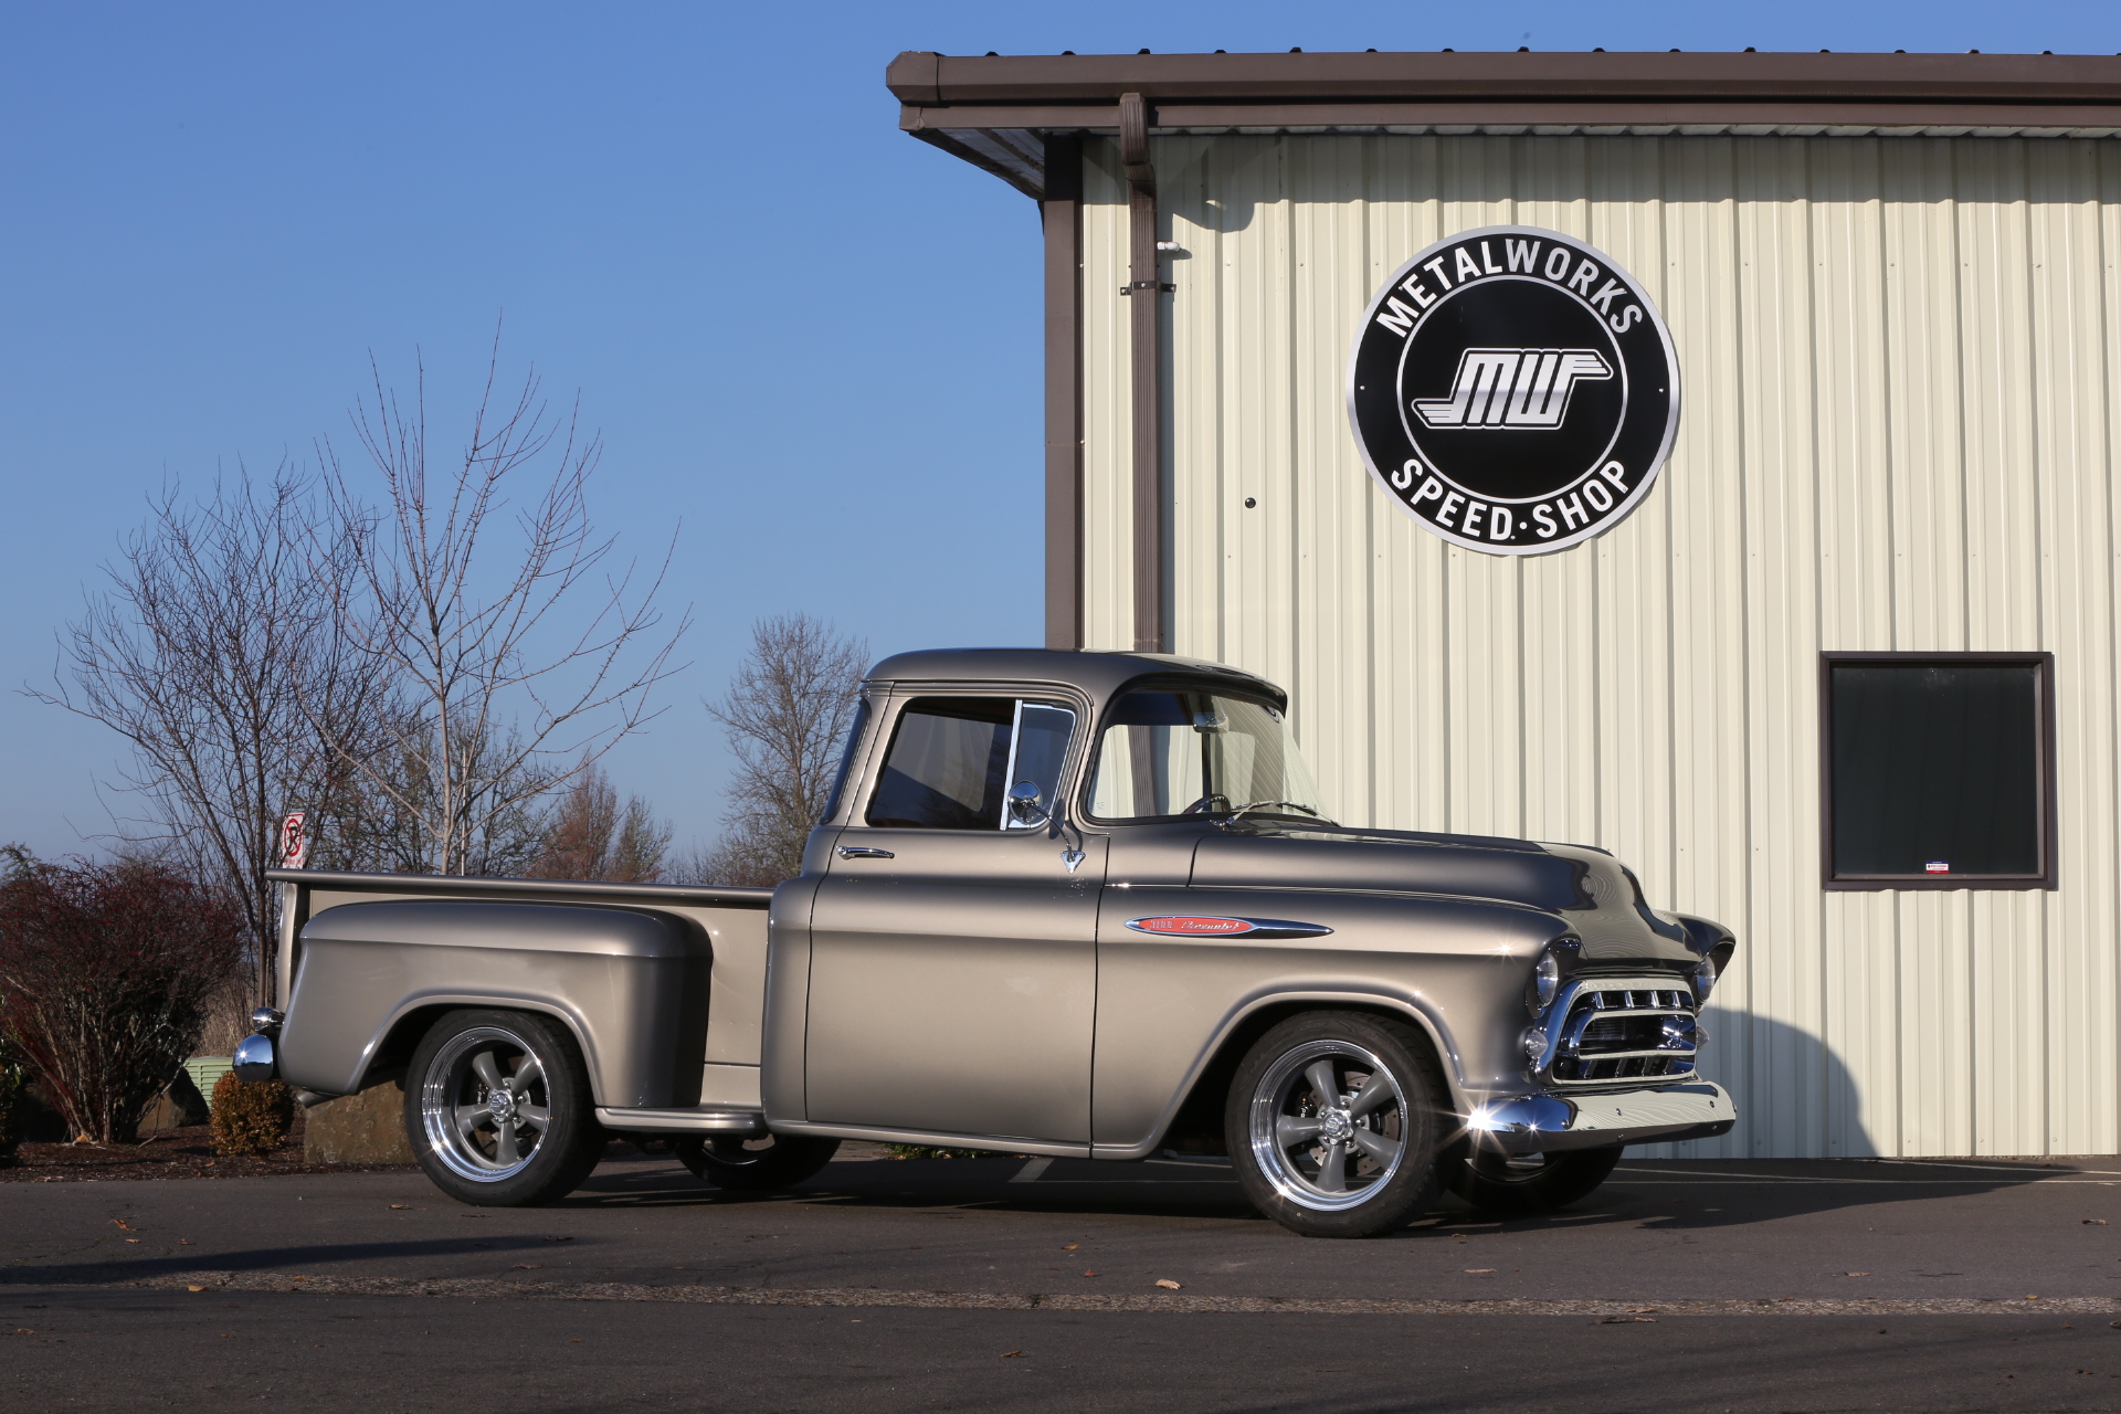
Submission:
<svg viewBox="0 0 2121 1414">
<path fill-rule="evenodd" d="M 1114 704 L 1097 746 L 1090 816 L 1188 814 L 1326 818 L 1283 712 L 1205 691 L 1135 691 Z"/>
</svg>

